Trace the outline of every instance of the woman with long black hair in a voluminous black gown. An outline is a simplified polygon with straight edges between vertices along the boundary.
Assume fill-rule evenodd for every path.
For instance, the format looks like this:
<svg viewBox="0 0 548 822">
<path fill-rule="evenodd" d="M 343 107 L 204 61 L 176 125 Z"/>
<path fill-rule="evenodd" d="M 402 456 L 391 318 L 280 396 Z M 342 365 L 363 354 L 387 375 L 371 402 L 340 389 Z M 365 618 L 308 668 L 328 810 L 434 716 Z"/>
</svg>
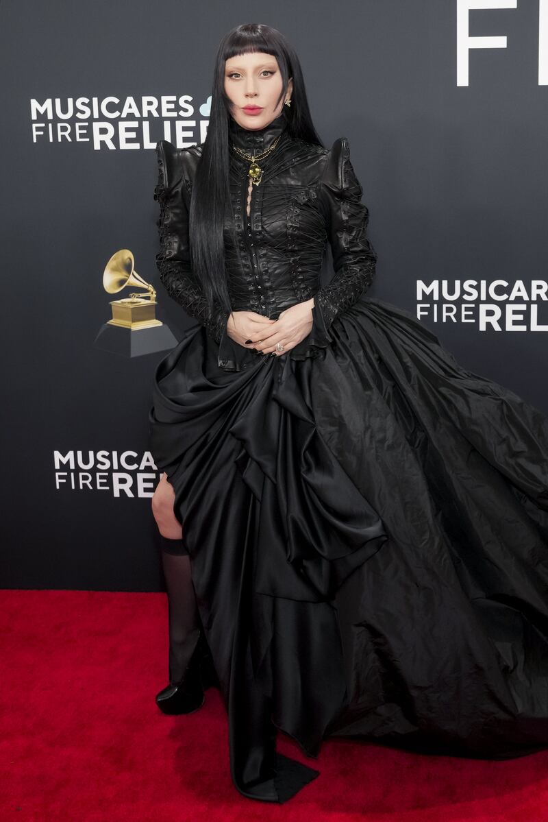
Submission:
<svg viewBox="0 0 548 822">
<path fill-rule="evenodd" d="M 150 412 L 160 708 L 216 682 L 233 782 L 265 801 L 318 775 L 276 753 L 277 729 L 311 757 L 329 736 L 546 747 L 548 419 L 365 296 L 348 140 L 321 144 L 278 31 L 229 32 L 205 143 L 157 148 L 159 275 L 198 320 Z"/>
</svg>

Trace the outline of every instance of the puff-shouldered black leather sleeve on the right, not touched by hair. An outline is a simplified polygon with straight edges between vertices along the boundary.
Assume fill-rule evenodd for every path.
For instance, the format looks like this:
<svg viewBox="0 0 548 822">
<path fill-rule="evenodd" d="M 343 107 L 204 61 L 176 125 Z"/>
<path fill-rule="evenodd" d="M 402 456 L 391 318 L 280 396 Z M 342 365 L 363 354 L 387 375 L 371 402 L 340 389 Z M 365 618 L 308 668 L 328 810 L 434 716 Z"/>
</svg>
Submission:
<svg viewBox="0 0 548 822">
<path fill-rule="evenodd" d="M 321 179 L 333 252 L 334 277 L 315 293 L 325 326 L 351 307 L 371 285 L 377 255 L 366 237 L 369 210 L 361 202 L 362 188 L 350 162 L 350 145 L 338 137 L 329 150 Z"/>
</svg>

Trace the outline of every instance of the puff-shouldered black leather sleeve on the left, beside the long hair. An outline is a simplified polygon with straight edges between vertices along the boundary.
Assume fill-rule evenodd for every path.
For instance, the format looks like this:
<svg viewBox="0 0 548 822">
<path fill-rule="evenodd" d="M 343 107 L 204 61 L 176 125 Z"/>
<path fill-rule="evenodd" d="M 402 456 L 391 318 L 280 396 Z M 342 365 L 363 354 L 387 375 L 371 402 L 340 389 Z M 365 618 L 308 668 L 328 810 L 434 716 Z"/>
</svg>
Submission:
<svg viewBox="0 0 548 822">
<path fill-rule="evenodd" d="M 230 313 L 219 304 L 210 307 L 190 266 L 190 240 L 187 185 L 182 153 L 167 140 L 156 144 L 158 183 L 154 200 L 159 202 L 159 253 L 156 266 L 160 280 L 187 314 L 205 326 L 208 335 L 219 343 Z"/>
</svg>

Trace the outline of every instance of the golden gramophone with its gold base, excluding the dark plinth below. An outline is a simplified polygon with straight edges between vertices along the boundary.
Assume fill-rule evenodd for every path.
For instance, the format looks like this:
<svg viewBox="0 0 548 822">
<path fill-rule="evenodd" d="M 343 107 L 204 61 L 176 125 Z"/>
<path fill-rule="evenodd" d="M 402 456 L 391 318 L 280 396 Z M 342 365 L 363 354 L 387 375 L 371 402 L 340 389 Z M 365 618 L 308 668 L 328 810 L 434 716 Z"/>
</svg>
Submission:
<svg viewBox="0 0 548 822">
<path fill-rule="evenodd" d="M 109 294 L 115 294 L 128 285 L 138 289 L 146 289 L 145 294 L 131 293 L 121 300 L 111 300 L 113 310 L 109 326 L 131 328 L 132 331 L 141 328 L 152 328 L 163 325 L 156 319 L 156 292 L 150 283 L 147 283 L 135 270 L 135 258 L 129 248 L 122 248 L 111 256 L 103 272 L 103 287 Z"/>
</svg>

